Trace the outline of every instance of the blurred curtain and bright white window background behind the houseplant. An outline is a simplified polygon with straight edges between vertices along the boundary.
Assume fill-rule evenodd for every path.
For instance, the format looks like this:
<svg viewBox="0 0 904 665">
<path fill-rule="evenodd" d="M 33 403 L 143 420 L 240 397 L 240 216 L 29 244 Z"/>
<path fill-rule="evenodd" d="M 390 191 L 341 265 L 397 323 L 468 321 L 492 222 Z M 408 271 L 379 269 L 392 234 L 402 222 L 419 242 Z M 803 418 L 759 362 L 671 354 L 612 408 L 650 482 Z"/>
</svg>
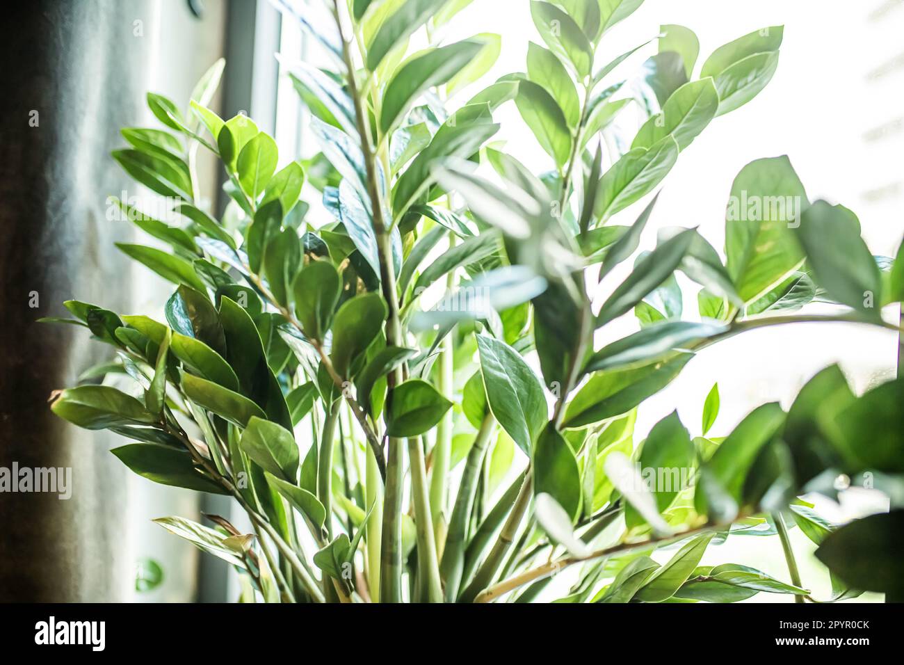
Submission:
<svg viewBox="0 0 904 665">
<path fill-rule="evenodd" d="M 502 55 L 482 83 L 523 71 L 529 41 L 540 41 L 527 4 L 475 0 L 440 36 L 502 36 Z M 725 204 L 739 170 L 759 157 L 788 155 L 811 200 L 851 208 L 872 251 L 895 255 L 904 232 L 904 2 L 646 0 L 604 40 L 602 60 L 653 38 L 660 24 L 692 28 L 701 42 L 700 62 L 720 44 L 768 25 L 784 24 L 785 41 L 767 89 L 715 119 L 683 153 L 665 181 L 642 246 L 653 245 L 657 230 L 679 225 L 698 226 L 720 248 Z M 225 57 L 223 86 L 212 109 L 226 117 L 244 111 L 275 133 L 283 166 L 316 148 L 275 54 L 315 64 L 325 63 L 322 54 L 267 0 L 33 0 L 6 9 L 0 34 L 0 145 L 6 152 L 0 160 L 0 467 L 13 461 L 71 466 L 74 486 L 69 500 L 0 495 L 0 601 L 234 599 L 238 590 L 226 565 L 199 556 L 150 522 L 175 514 L 197 519 L 202 510 L 228 515 L 228 503 L 140 479 L 108 454 L 115 437 L 55 419 L 48 395 L 104 360 L 106 351 L 79 331 L 33 320 L 60 315 L 61 302 L 71 298 L 128 313 L 162 309 L 167 287 L 113 250 L 112 242 L 134 232 L 107 216 L 108 195 L 126 193 L 138 202 L 146 195 L 109 152 L 122 144 L 119 128 L 155 125 L 145 105 L 147 90 L 182 103 L 212 62 Z M 630 76 L 655 49 L 650 44 L 637 52 L 621 66 L 621 76 Z M 471 91 L 460 92 L 462 100 Z M 499 109 L 497 121 L 506 150 L 538 173 L 551 167 L 513 104 Z M 625 114 L 620 129 L 631 135 L 639 121 Z M 212 162 L 202 162 L 200 176 L 211 208 L 221 209 Z M 645 204 L 636 204 L 625 218 L 633 219 Z M 614 273 L 604 288 L 623 277 Z M 684 308 L 692 317 L 696 290 L 686 286 Z M 33 292 L 37 307 L 30 306 Z M 636 321 L 624 319 L 598 343 L 633 332 Z M 824 366 L 840 363 L 862 391 L 894 375 L 898 353 L 893 333 L 845 324 L 735 337 L 695 358 L 673 385 L 645 403 L 636 441 L 676 408 L 685 423 L 700 423 L 713 383 L 720 385 L 722 407 L 711 435 L 720 436 L 755 405 L 779 401 L 787 407 Z M 840 504 L 823 500 L 817 508 L 842 521 L 883 505 L 879 492 L 857 489 Z M 792 537 L 815 596 L 829 595 L 828 575 L 811 556 L 814 546 L 796 529 Z M 741 553 L 745 563 L 786 575 L 775 538 L 732 537 L 711 548 L 702 563 L 736 561 Z M 153 577 L 155 565 L 163 571 L 162 583 L 137 590 L 137 569 Z M 866 594 L 860 600 L 876 599 Z M 753 600 L 784 599 L 760 594 Z"/>
</svg>

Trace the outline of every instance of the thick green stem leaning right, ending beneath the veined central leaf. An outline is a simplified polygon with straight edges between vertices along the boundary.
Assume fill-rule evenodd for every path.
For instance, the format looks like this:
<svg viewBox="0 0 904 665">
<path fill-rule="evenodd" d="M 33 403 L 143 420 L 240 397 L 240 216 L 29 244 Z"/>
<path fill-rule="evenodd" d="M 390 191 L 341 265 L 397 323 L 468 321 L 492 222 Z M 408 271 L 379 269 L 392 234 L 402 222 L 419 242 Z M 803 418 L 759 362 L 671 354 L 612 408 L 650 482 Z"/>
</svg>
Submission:
<svg viewBox="0 0 904 665">
<path fill-rule="evenodd" d="M 477 477 L 484 463 L 486 448 L 490 437 L 495 430 L 493 415 L 487 413 L 480 430 L 477 432 L 474 445 L 467 453 L 465 470 L 458 486 L 458 496 L 455 508 L 452 509 L 452 518 L 449 520 L 449 529 L 446 537 L 446 546 L 443 548 L 443 560 L 439 565 L 443 582 L 446 583 L 446 602 L 455 603 L 458 596 L 458 588 L 461 585 L 462 573 L 465 569 L 465 545 L 467 537 L 467 523 L 471 518 L 471 510 L 474 508 L 474 497 L 477 489 Z"/>
</svg>

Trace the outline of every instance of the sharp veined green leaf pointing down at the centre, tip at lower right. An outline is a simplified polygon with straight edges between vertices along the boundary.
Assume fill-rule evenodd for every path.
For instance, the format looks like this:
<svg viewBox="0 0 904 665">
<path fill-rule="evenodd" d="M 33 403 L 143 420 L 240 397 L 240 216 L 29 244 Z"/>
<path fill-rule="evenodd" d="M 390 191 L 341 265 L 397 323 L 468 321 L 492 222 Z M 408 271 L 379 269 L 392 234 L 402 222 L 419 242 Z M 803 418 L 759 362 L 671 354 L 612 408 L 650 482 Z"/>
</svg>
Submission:
<svg viewBox="0 0 904 665">
<path fill-rule="evenodd" d="M 504 342 L 477 336 L 487 402 L 495 419 L 525 454 L 547 421 L 546 397 L 537 375 Z"/>
</svg>

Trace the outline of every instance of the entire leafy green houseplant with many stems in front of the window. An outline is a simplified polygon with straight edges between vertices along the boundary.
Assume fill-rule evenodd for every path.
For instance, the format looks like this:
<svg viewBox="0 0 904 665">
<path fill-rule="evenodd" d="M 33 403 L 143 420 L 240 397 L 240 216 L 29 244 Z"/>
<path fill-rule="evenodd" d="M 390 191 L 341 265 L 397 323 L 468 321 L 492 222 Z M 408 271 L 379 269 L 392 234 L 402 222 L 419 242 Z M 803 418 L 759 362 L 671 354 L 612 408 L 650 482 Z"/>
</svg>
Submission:
<svg viewBox="0 0 904 665">
<path fill-rule="evenodd" d="M 904 270 L 871 255 L 850 210 L 809 202 L 786 157 L 739 173 L 721 254 L 694 229 L 641 251 L 655 197 L 620 214 L 763 90 L 782 28 L 698 65 L 692 31 L 665 25 L 638 46 L 655 54 L 634 76 L 619 67 L 634 51 L 607 52 L 607 35 L 642 0 L 525 3 L 540 38 L 525 71 L 463 97 L 500 48 L 492 34 L 443 41 L 468 0 L 308 1 L 334 23 L 276 4 L 331 62 L 284 63 L 322 151 L 277 169 L 252 119 L 208 109 L 222 62 L 188 109 L 149 95 L 162 128 L 123 130 L 130 147 L 114 157 L 174 197 L 181 223 L 119 202 L 157 241 L 119 248 L 174 283 L 165 322 L 65 303 L 116 361 L 55 394 L 53 411 L 127 438 L 113 452 L 147 479 L 230 495 L 254 531 L 157 521 L 234 565 L 246 601 L 899 596 L 896 499 L 838 526 L 798 495 L 834 496 L 842 474 L 899 487 L 904 384 L 858 396 L 829 367 L 789 411 L 763 404 L 724 438 L 706 438 L 720 400 L 707 386 L 702 423 L 672 413 L 634 435 L 645 399 L 722 339 L 798 321 L 898 330 L 880 309 L 901 299 Z M 425 32 L 428 48 L 410 49 Z M 494 141 L 505 103 L 549 172 Z M 623 136 L 613 120 L 631 107 L 647 119 Z M 220 218 L 197 199 L 199 149 L 223 167 Z M 320 200 L 300 200 L 305 183 Z M 308 222 L 314 206 L 328 222 Z M 602 283 L 626 261 L 624 279 Z M 701 286 L 700 318 L 683 316 L 679 272 Z M 837 313 L 800 312 L 813 301 Z M 624 317 L 636 333 L 595 341 Z M 690 473 L 664 482 L 675 470 Z M 820 544 L 833 598 L 800 579 L 791 528 Z M 701 566 L 727 537 L 775 537 L 787 578 Z"/>
</svg>

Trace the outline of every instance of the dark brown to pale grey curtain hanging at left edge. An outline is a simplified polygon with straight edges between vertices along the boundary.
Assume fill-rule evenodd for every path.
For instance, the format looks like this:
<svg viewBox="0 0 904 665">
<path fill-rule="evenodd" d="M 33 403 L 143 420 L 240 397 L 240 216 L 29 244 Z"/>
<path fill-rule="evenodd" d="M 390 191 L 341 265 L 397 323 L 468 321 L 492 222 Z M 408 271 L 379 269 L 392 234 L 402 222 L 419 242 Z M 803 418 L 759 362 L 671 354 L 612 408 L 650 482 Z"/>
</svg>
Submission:
<svg viewBox="0 0 904 665">
<path fill-rule="evenodd" d="M 127 519 L 127 470 L 108 452 L 123 441 L 63 423 L 47 404 L 52 390 L 109 359 L 110 349 L 82 328 L 34 319 L 66 315 L 61 302 L 73 298 L 124 313 L 134 307 L 139 269 L 113 247 L 133 232 L 106 218 L 107 196 L 134 185 L 109 153 L 123 145 L 119 128 L 146 119 L 145 93 L 161 60 L 184 55 L 174 75 L 193 81 L 221 54 L 191 57 L 203 31 L 220 31 L 221 48 L 223 22 L 205 23 L 193 14 L 198 5 L 30 0 L 4 7 L 0 467 L 71 467 L 72 494 L 0 493 L 0 601 L 130 597 L 137 527 Z M 169 24 L 161 20 L 171 13 Z M 210 38 L 200 41 L 212 50 Z M 191 87 L 179 88 L 182 103 Z"/>
</svg>

